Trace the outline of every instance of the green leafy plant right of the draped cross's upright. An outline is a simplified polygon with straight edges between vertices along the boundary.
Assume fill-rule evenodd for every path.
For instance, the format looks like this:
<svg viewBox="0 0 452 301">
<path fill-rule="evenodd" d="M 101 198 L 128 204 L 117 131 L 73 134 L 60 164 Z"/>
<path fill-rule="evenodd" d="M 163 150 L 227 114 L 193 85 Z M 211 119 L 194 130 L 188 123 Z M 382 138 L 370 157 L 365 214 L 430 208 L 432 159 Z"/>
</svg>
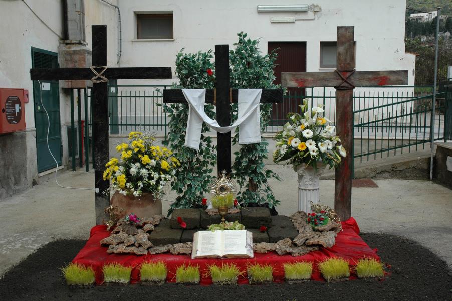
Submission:
<svg viewBox="0 0 452 301">
<path fill-rule="evenodd" d="M 231 87 L 249 89 L 278 89 L 280 85 L 273 84 L 275 75 L 273 67 L 277 57 L 276 52 L 262 55 L 259 51 L 259 40 L 247 39 L 246 33 L 237 34 L 239 42 L 235 43 L 234 50 L 230 51 L 229 59 L 231 66 Z M 237 111 L 237 104 L 233 105 L 233 111 Z M 272 104 L 261 104 L 261 132 L 269 125 L 271 119 Z M 237 115 L 233 116 L 233 119 Z M 238 143 L 239 132 L 233 137 L 233 144 Z M 267 159 L 268 142 L 261 136 L 261 143 L 242 145 L 238 152 L 235 152 L 233 163 L 233 177 L 241 187 L 237 199 L 242 206 L 249 206 L 252 203 L 258 205 L 268 204 L 274 208 L 279 204 L 275 199 L 268 179 L 280 180 L 273 171 L 266 169 L 264 159 Z"/>
</svg>

